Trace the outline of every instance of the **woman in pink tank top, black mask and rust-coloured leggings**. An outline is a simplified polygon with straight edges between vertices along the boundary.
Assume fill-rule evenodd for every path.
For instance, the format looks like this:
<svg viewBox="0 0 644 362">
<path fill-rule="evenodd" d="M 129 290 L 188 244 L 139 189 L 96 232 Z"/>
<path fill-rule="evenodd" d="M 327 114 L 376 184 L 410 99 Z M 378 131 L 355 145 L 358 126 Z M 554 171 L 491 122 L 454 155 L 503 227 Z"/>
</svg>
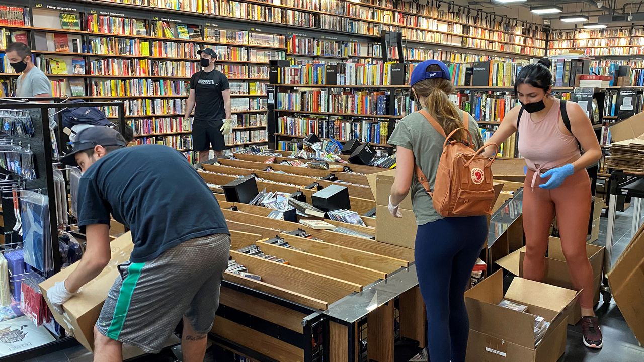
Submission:
<svg viewBox="0 0 644 362">
<path fill-rule="evenodd" d="M 580 296 L 583 343 L 601 348 L 603 338 L 593 310 L 592 268 L 586 256 L 592 201 L 586 168 L 601 158 L 601 148 L 591 120 L 574 102 L 565 104 L 571 131 L 565 126 L 561 101 L 551 95 L 550 66 L 549 59 L 544 58 L 521 70 L 515 82 L 521 105 L 507 113 L 489 142 L 501 144 L 519 131 L 518 151 L 526 158 L 528 169 L 523 201 L 524 278 L 536 281 L 544 278 L 545 252 L 556 214 L 571 280 L 578 291 L 583 289 Z M 488 156 L 494 152 L 486 150 Z"/>
</svg>

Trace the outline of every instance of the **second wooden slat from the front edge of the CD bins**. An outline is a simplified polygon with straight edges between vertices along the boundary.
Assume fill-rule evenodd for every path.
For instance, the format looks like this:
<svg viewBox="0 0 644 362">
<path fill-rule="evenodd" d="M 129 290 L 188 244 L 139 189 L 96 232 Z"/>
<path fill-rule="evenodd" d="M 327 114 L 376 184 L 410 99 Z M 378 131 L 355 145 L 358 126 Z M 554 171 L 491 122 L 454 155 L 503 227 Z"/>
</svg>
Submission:
<svg viewBox="0 0 644 362">
<path fill-rule="evenodd" d="M 231 258 L 248 268 L 262 281 L 299 292 L 313 298 L 334 302 L 352 292 L 362 291 L 362 286 L 290 265 L 270 262 L 241 252 L 231 251 Z"/>
</svg>

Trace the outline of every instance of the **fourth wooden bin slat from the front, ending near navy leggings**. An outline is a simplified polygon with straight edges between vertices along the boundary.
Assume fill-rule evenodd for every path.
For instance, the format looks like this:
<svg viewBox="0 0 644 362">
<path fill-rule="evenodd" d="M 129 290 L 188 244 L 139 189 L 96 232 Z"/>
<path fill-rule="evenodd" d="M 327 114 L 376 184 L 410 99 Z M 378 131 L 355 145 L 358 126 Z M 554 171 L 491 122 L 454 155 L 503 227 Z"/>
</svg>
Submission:
<svg viewBox="0 0 644 362">
<path fill-rule="evenodd" d="M 317 240 L 289 234 L 279 234 L 279 237 L 289 242 L 290 245 L 304 249 L 310 254 L 325 256 L 354 265 L 361 265 L 377 271 L 390 273 L 408 265 L 408 262 L 405 260 L 390 258 L 389 256 L 374 254 L 373 252 L 353 249 L 334 243 L 318 242 Z"/>
</svg>

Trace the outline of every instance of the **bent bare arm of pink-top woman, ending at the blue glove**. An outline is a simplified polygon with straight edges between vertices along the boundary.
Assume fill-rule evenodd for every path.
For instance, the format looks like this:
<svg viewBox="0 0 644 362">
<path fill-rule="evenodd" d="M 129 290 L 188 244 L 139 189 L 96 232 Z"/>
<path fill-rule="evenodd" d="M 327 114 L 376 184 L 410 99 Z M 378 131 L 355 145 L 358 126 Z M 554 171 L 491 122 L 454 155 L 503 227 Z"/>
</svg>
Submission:
<svg viewBox="0 0 644 362">
<path fill-rule="evenodd" d="M 571 131 L 583 148 L 582 157 L 573 162 L 574 171 L 578 171 L 595 164 L 601 158 L 601 147 L 592 128 L 591 119 L 588 118 L 582 107 L 575 102 L 566 102 L 566 110 L 570 119 Z"/>
</svg>

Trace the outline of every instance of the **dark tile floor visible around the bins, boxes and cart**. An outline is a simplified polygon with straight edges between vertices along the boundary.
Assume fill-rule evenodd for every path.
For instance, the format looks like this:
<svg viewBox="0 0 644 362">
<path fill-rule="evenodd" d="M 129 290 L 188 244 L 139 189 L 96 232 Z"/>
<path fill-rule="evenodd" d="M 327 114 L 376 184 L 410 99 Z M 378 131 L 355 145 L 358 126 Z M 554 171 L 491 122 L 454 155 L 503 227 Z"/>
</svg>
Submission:
<svg viewBox="0 0 644 362">
<path fill-rule="evenodd" d="M 603 215 L 605 216 L 605 214 Z M 614 231 L 613 263 L 621 255 L 631 239 L 632 210 L 618 213 Z M 643 218 L 644 221 L 644 218 Z M 607 218 L 601 218 L 600 238 L 597 245 L 605 245 Z M 639 346 L 635 336 L 630 332 L 620 310 L 614 301 L 600 301 L 597 315 L 600 318 L 604 336 L 604 347 L 601 350 L 591 350 L 582 343 L 580 325 L 568 327 L 568 339 L 565 355 L 558 362 L 641 362 L 644 361 L 644 348 Z M 179 352 L 180 354 L 180 352 Z M 210 348 L 205 362 L 232 362 L 229 358 L 214 358 L 214 348 Z M 413 356 L 413 354 L 412 354 Z M 171 351 L 165 351 L 156 356 L 139 357 L 135 362 L 176 362 L 177 358 Z M 37 357 L 24 362 L 91 362 L 91 354 L 78 346 L 62 350 L 47 356 Z M 283 361 L 289 362 L 289 361 Z M 401 360 L 401 362 L 403 362 Z"/>
</svg>

